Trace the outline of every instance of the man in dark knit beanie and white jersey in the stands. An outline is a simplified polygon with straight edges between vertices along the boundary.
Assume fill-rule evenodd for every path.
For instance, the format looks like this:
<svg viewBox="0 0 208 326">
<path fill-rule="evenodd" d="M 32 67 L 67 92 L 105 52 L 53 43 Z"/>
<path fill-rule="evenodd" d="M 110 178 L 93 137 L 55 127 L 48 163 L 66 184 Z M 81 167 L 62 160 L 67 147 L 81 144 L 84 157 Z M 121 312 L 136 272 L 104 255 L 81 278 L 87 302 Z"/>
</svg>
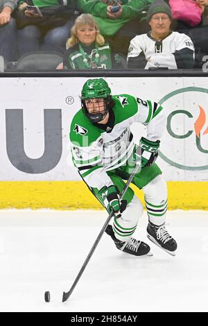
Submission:
<svg viewBox="0 0 208 326">
<path fill-rule="evenodd" d="M 128 68 L 193 68 L 193 42 L 189 36 L 171 31 L 171 21 L 171 8 L 163 0 L 155 0 L 147 15 L 151 30 L 130 42 Z"/>
</svg>

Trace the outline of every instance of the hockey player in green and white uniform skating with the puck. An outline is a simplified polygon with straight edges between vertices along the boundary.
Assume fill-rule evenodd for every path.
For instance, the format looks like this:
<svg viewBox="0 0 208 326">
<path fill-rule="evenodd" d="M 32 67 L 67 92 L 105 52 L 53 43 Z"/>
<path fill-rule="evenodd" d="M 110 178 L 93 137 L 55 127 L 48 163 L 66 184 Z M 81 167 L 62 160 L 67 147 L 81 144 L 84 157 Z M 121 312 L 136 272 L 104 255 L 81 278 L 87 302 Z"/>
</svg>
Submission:
<svg viewBox="0 0 208 326">
<path fill-rule="evenodd" d="M 89 79 L 81 93 L 82 109 L 71 122 L 70 140 L 73 164 L 92 194 L 110 213 L 114 211 L 109 234 L 116 248 L 131 255 L 150 255 L 150 247 L 132 234 L 143 214 L 140 200 L 129 187 L 123 200 L 119 194 L 130 173 L 141 162 L 141 171 L 132 183 L 143 189 L 148 213 L 148 238 L 171 255 L 177 243 L 165 227 L 167 210 L 166 182 L 155 164 L 159 139 L 166 126 L 162 107 L 152 101 L 128 94 L 114 95 L 103 78 Z M 130 126 L 147 126 L 146 137 L 134 144 Z M 141 155 L 138 155 L 141 153 Z"/>
</svg>

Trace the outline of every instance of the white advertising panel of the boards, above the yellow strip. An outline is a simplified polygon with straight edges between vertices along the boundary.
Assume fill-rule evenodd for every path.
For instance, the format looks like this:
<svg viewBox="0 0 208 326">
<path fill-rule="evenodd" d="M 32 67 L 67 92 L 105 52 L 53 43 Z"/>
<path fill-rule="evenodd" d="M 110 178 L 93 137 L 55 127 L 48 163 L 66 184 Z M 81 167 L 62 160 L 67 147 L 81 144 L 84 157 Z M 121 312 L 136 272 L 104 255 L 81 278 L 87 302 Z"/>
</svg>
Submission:
<svg viewBox="0 0 208 326">
<path fill-rule="evenodd" d="M 80 180 L 71 162 L 69 126 L 80 110 L 87 78 L 1 79 L 0 180 Z M 208 175 L 208 89 L 206 78 L 106 78 L 112 94 L 159 102 L 166 130 L 157 163 L 167 181 L 201 182 Z M 10 94 L 10 96 L 8 96 Z M 135 141 L 145 135 L 133 126 Z M 78 182 L 79 183 L 79 182 Z"/>
</svg>

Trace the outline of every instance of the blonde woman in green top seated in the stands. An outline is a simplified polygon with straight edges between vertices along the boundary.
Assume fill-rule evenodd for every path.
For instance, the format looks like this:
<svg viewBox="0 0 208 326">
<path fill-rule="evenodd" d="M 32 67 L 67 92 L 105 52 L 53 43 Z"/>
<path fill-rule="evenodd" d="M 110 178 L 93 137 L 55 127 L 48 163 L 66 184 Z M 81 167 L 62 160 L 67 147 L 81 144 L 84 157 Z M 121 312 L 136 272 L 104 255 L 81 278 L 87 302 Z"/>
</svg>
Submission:
<svg viewBox="0 0 208 326">
<path fill-rule="evenodd" d="M 119 54 L 111 51 L 99 33 L 98 25 L 92 15 L 77 17 L 67 40 L 63 66 L 58 69 L 119 69 L 122 68 Z"/>
</svg>

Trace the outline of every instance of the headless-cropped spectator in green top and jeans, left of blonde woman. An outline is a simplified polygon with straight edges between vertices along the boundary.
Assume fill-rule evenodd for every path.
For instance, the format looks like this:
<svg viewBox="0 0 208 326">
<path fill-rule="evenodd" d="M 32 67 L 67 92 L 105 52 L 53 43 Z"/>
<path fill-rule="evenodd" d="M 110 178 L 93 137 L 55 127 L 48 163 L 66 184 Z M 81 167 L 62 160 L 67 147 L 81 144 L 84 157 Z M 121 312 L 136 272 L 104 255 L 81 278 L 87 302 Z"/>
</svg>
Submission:
<svg viewBox="0 0 208 326">
<path fill-rule="evenodd" d="M 38 6 L 43 17 L 28 10 L 28 5 Z M 64 52 L 69 30 L 76 18 L 74 10 L 75 0 L 67 0 L 67 5 L 60 4 L 59 0 L 19 1 L 15 15 L 19 55 L 39 50 Z"/>
</svg>

